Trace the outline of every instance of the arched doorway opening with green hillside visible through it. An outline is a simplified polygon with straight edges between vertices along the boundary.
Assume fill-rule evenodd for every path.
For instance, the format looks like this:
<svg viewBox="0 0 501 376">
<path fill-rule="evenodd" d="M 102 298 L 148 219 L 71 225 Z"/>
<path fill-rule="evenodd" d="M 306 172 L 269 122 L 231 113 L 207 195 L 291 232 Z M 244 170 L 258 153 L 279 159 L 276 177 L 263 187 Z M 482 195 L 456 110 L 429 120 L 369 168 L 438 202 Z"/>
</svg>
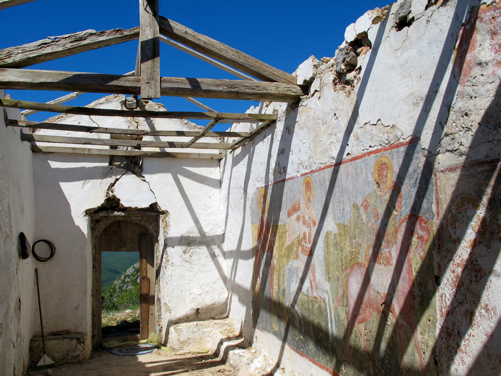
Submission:
<svg viewBox="0 0 501 376">
<path fill-rule="evenodd" d="M 94 238 L 93 346 L 146 339 L 149 328 L 156 328 L 153 237 L 125 218 L 100 225 Z"/>
</svg>

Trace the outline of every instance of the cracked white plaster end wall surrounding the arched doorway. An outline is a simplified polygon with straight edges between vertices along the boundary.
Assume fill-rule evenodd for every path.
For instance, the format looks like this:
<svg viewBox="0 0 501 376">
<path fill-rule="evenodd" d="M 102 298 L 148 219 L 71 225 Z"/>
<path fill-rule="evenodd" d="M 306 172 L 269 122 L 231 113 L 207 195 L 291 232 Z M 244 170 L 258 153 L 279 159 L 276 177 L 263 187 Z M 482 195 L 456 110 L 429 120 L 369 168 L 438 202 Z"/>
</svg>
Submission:
<svg viewBox="0 0 501 376">
<path fill-rule="evenodd" d="M 91 105 L 119 109 L 123 100 L 124 96 L 109 96 Z M 146 107 L 165 110 L 151 102 Z M 198 129 L 184 120 L 169 119 L 60 115 L 49 121 L 133 129 Z M 37 133 L 68 135 L 61 131 Z M 218 160 L 144 158 L 138 175 L 110 167 L 107 156 L 34 154 L 33 164 L 35 236 L 51 240 L 57 248 L 54 260 L 39 268 L 45 314 L 51 317 L 44 322 L 47 333 L 83 332 L 87 334 L 85 351 L 90 352 L 92 244 L 86 213 L 101 207 L 106 199 L 115 204 L 118 199 L 121 208 L 132 212 L 148 211 L 152 204 L 165 213 L 160 213 L 162 228 L 155 249 L 157 329 L 163 338 L 173 323 L 225 315 L 227 290 L 218 248 L 223 230 Z M 36 316 L 33 322 L 37 334 Z"/>
</svg>

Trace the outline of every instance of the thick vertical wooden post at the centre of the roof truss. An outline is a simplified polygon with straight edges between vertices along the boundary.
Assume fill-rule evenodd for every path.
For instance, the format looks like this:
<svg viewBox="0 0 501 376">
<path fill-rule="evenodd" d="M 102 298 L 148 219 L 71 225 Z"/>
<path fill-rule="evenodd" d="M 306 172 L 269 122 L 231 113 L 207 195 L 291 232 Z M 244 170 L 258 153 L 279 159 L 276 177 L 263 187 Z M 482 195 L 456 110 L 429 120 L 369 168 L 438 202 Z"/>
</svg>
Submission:
<svg viewBox="0 0 501 376">
<path fill-rule="evenodd" d="M 141 98 L 160 98 L 158 0 L 139 0 Z"/>
</svg>

